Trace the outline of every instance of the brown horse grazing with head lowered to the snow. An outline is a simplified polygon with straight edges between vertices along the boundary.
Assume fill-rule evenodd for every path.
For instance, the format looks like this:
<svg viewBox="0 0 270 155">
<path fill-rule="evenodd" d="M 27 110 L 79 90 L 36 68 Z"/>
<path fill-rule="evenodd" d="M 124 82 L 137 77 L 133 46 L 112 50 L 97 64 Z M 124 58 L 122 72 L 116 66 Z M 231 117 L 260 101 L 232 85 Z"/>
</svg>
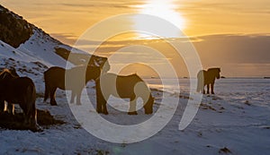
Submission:
<svg viewBox="0 0 270 155">
<path fill-rule="evenodd" d="M 96 112 L 108 115 L 106 103 L 112 95 L 116 98 L 130 99 L 129 115 L 137 115 L 136 101 L 141 98 L 144 102 L 145 114 L 153 113 L 154 98 L 146 82 L 137 74 L 121 76 L 114 73 L 104 73 L 95 81 Z"/>
</svg>

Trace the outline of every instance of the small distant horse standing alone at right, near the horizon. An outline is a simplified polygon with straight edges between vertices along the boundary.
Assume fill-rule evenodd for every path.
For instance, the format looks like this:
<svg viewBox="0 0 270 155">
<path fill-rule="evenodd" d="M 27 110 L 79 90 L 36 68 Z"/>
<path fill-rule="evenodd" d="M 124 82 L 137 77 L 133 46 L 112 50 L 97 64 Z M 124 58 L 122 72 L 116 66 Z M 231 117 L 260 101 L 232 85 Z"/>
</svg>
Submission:
<svg viewBox="0 0 270 155">
<path fill-rule="evenodd" d="M 202 91 L 205 94 L 204 86 L 207 86 L 207 94 L 209 94 L 211 86 L 211 94 L 214 94 L 214 83 L 216 79 L 220 79 L 220 68 L 209 68 L 207 71 L 201 70 L 197 74 L 197 92 Z"/>
</svg>

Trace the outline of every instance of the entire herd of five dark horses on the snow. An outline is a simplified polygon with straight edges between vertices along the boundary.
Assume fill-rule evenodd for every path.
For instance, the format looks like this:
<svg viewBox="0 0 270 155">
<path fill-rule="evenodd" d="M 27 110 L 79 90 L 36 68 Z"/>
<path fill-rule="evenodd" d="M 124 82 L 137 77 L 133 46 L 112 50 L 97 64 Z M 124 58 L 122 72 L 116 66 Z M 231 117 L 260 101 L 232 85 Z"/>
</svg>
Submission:
<svg viewBox="0 0 270 155">
<path fill-rule="evenodd" d="M 197 91 L 202 90 L 204 93 L 203 87 L 207 85 L 207 93 L 209 93 L 211 84 L 211 93 L 214 93 L 213 82 L 215 78 L 220 77 L 220 68 L 210 69 L 208 72 L 200 71 L 198 73 Z M 55 93 L 57 89 L 61 89 L 72 90 L 70 103 L 74 103 L 76 98 L 76 104 L 80 105 L 81 92 L 85 84 L 94 80 L 97 113 L 108 114 L 106 103 L 111 95 L 117 98 L 130 99 L 129 115 L 137 115 L 136 101 L 139 98 L 143 100 L 145 114 L 153 113 L 154 98 L 146 82 L 137 74 L 121 76 L 114 73 L 101 73 L 100 67 L 90 65 L 76 66 L 71 69 L 58 66 L 50 67 L 44 72 L 44 102 L 50 99 L 50 105 L 56 106 Z M 23 109 L 24 123 L 26 125 L 37 125 L 35 100 L 36 89 L 31 78 L 20 77 L 14 68 L 4 69 L 0 73 L 0 113 L 4 111 L 4 101 L 7 102 L 8 111 L 13 114 L 14 104 L 19 104 Z"/>
</svg>

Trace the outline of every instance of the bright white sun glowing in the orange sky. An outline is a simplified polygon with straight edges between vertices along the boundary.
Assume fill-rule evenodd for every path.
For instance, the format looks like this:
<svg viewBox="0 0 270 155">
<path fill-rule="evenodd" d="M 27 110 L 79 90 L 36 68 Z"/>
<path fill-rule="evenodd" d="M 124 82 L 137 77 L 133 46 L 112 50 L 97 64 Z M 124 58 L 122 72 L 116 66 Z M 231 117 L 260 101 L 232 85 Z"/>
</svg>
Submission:
<svg viewBox="0 0 270 155">
<path fill-rule="evenodd" d="M 172 0 L 148 0 L 146 4 L 140 4 L 138 6 L 139 13 L 145 13 L 157 16 L 163 20 L 166 20 L 167 22 L 171 22 L 174 24 L 179 30 L 184 30 L 185 27 L 185 19 L 181 15 L 181 13 L 177 12 L 176 5 L 174 4 L 174 1 Z M 134 29 L 139 30 L 141 27 L 145 26 L 157 26 L 155 23 L 152 23 L 149 25 L 146 25 L 146 22 L 143 19 L 140 19 L 139 17 L 134 17 Z M 162 27 L 162 25 L 159 25 Z M 181 33 L 182 34 L 182 33 Z M 164 34 L 164 38 L 177 38 L 181 37 L 182 35 L 179 34 L 179 31 L 172 31 L 167 30 L 167 32 Z M 139 34 L 140 37 L 151 37 L 149 34 Z"/>
</svg>

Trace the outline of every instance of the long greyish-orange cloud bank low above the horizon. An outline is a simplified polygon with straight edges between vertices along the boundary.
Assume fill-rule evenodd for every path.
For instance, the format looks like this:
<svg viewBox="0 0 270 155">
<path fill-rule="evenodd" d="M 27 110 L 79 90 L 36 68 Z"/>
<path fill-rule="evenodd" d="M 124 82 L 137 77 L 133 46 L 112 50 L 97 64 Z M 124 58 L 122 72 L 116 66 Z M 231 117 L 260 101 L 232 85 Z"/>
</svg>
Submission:
<svg viewBox="0 0 270 155">
<path fill-rule="evenodd" d="M 74 42 L 72 34 L 52 34 L 52 36 L 67 41 Z M 216 34 L 208 36 L 199 36 L 190 39 L 193 42 L 199 56 L 202 60 L 203 67 L 209 68 L 212 66 L 220 66 L 222 74 L 225 76 L 270 76 L 270 34 Z M 92 51 L 93 47 L 100 44 L 100 41 L 81 40 L 81 46 L 86 51 Z M 171 39 L 171 41 L 185 44 L 186 39 Z M 187 71 L 184 65 L 183 58 L 172 49 L 167 47 L 165 40 L 162 39 L 139 39 L 139 40 L 118 40 L 108 41 L 99 47 L 94 52 L 99 56 L 111 56 L 113 52 L 121 50 L 123 47 L 131 45 L 143 45 L 147 47 L 154 47 L 161 51 L 166 59 L 169 60 L 178 70 L 179 76 L 187 76 Z M 91 48 L 92 47 L 92 48 Z M 144 51 L 125 50 L 116 53 L 120 57 L 139 56 L 141 59 L 148 59 Z M 138 52 L 139 51 L 139 52 Z M 132 53 L 133 52 L 133 53 Z M 155 57 L 149 59 L 149 64 L 162 65 L 163 60 L 158 60 Z M 113 62 L 119 65 L 122 62 Z"/>
</svg>

